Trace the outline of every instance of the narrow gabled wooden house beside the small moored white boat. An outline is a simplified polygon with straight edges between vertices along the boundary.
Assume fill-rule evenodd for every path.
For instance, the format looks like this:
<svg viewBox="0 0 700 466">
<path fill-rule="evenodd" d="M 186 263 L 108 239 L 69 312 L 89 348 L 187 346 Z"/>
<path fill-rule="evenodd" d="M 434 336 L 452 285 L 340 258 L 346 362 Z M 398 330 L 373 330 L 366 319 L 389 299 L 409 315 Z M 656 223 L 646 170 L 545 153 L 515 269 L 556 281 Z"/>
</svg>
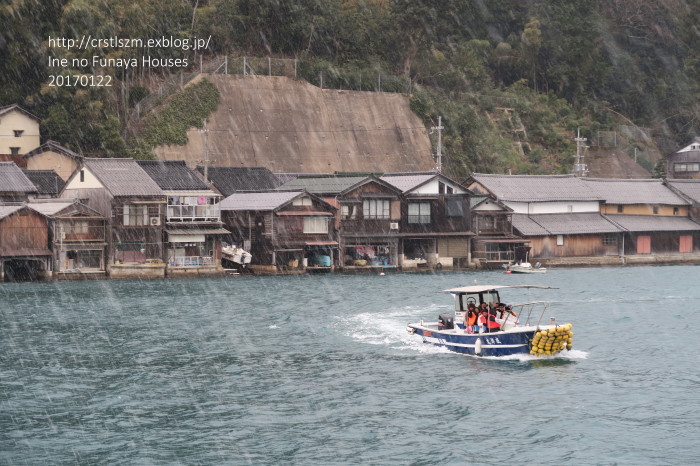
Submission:
<svg viewBox="0 0 700 466">
<path fill-rule="evenodd" d="M 530 241 L 513 231 L 513 209 L 488 195 L 471 198 L 472 262 L 478 267 L 501 267 L 516 261 L 515 253 Z"/>
</svg>

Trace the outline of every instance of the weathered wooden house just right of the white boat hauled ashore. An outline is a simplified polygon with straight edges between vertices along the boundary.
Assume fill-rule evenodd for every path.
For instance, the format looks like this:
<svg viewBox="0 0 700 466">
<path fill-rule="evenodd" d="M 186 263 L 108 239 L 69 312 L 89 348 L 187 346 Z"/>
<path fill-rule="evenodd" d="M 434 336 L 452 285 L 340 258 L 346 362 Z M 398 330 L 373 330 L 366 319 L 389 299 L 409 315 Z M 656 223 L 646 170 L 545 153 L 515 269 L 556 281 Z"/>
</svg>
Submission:
<svg viewBox="0 0 700 466">
<path fill-rule="evenodd" d="M 337 264 L 336 208 L 314 194 L 239 192 L 221 202 L 221 212 L 232 242 L 253 255 L 253 268 L 331 270 Z"/>
</svg>

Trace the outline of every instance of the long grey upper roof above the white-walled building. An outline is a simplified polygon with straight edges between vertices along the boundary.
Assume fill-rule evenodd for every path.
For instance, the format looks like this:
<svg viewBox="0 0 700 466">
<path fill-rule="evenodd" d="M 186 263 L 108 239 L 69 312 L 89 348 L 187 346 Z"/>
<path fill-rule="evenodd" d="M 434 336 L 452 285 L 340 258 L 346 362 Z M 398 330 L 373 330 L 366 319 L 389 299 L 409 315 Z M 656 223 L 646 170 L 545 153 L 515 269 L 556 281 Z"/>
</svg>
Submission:
<svg viewBox="0 0 700 466">
<path fill-rule="evenodd" d="M 484 175 L 474 173 L 477 181 L 500 201 L 599 201 L 586 183 L 573 175 Z"/>
</svg>

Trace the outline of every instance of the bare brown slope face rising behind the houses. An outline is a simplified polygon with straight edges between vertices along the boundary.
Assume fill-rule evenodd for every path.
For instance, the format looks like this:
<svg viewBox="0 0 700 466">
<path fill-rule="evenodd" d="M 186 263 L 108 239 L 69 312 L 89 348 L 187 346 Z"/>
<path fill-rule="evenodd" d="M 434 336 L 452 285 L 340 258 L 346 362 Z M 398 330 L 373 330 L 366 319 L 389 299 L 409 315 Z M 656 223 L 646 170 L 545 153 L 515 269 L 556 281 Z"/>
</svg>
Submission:
<svg viewBox="0 0 700 466">
<path fill-rule="evenodd" d="M 207 139 L 210 164 L 219 166 L 305 173 L 434 167 L 425 125 L 405 95 L 320 89 L 280 76 L 202 77 L 220 94 L 208 137 L 190 129 L 185 146 L 157 147 L 159 159 L 201 165 Z"/>
</svg>

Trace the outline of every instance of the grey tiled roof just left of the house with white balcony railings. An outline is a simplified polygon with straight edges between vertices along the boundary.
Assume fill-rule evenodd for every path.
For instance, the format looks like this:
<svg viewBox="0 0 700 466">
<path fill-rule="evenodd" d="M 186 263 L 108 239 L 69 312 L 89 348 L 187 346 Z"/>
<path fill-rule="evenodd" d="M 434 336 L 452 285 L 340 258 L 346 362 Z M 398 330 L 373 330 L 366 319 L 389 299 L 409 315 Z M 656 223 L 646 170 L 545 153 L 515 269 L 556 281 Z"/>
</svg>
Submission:
<svg viewBox="0 0 700 466">
<path fill-rule="evenodd" d="M 85 166 L 113 196 L 163 196 L 134 159 L 85 159 Z"/>
</svg>

